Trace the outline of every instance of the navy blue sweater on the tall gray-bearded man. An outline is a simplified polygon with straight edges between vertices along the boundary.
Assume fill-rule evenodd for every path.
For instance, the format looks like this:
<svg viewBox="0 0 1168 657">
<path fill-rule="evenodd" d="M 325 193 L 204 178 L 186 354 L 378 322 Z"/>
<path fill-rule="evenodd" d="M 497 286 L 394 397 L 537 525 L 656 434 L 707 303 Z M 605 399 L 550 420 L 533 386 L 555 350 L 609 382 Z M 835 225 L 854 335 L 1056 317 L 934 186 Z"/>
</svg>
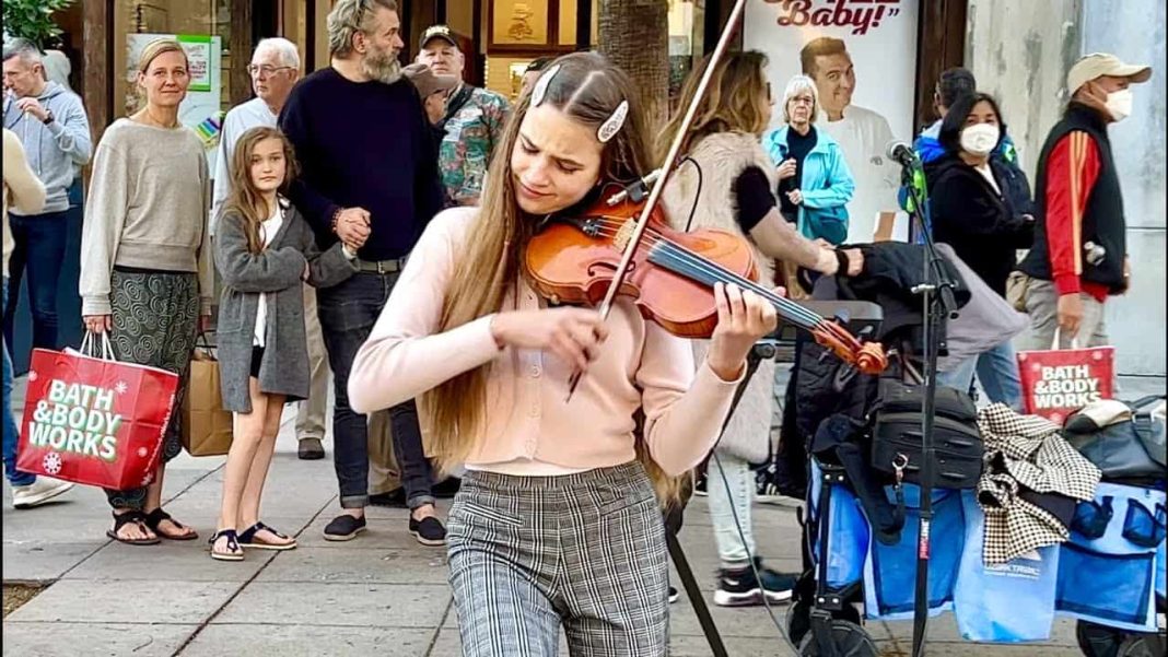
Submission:
<svg viewBox="0 0 1168 657">
<path fill-rule="evenodd" d="M 280 112 L 300 163 L 288 196 L 321 249 L 336 243 L 333 214 L 370 215 L 363 260 L 406 256 L 442 209 L 438 159 L 422 100 L 405 78 L 394 84 L 350 82 L 321 69 L 292 89 Z"/>
</svg>

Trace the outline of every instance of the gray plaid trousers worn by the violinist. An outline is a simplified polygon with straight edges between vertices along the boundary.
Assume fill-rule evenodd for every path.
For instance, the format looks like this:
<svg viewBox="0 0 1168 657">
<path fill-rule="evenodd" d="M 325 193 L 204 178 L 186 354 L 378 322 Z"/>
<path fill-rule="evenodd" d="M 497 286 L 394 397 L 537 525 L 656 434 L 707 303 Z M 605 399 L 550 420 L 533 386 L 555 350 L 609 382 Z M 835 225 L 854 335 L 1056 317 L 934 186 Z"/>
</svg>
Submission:
<svg viewBox="0 0 1168 657">
<path fill-rule="evenodd" d="M 468 471 L 450 511 L 463 655 L 654 657 L 669 649 L 661 509 L 640 463 L 554 477 Z"/>
</svg>

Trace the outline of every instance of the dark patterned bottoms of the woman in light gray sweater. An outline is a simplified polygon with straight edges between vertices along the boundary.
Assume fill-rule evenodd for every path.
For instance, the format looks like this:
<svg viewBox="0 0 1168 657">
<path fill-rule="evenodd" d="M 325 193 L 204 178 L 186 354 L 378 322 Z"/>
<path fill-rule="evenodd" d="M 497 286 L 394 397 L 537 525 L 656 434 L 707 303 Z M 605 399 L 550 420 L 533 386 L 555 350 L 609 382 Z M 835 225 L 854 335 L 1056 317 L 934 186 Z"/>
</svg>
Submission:
<svg viewBox="0 0 1168 657">
<path fill-rule="evenodd" d="M 113 355 L 124 363 L 161 368 L 179 375 L 174 407 L 182 406 L 190 355 L 199 331 L 199 277 L 116 267 L 110 279 Z M 162 461 L 182 450 L 180 414 L 172 413 L 162 442 Z M 110 492 L 114 506 L 140 508 L 145 489 Z"/>
</svg>

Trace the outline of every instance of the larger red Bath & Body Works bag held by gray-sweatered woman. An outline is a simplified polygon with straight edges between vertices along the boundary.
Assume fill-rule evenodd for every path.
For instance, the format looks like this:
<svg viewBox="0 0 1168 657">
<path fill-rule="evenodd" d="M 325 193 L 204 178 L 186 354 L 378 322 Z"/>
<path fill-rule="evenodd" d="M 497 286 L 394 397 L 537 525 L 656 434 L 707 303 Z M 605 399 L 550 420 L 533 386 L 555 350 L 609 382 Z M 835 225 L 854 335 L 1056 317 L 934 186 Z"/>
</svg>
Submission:
<svg viewBox="0 0 1168 657">
<path fill-rule="evenodd" d="M 116 490 L 153 481 L 179 377 L 113 361 L 107 342 L 105 355 L 33 350 L 19 470 Z"/>
</svg>

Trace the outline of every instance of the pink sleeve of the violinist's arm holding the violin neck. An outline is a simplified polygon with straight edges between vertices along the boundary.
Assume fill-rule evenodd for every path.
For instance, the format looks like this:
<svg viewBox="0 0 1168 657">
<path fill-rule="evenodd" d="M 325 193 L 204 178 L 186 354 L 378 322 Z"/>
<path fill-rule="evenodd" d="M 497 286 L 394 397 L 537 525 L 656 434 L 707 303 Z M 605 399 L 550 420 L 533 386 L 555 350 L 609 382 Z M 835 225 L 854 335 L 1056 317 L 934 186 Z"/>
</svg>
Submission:
<svg viewBox="0 0 1168 657">
<path fill-rule="evenodd" d="M 694 373 L 690 341 L 646 322 L 645 351 L 637 371 L 645 408 L 645 440 L 669 475 L 696 467 L 714 448 L 742 378 L 718 378 L 707 363 Z"/>
</svg>

